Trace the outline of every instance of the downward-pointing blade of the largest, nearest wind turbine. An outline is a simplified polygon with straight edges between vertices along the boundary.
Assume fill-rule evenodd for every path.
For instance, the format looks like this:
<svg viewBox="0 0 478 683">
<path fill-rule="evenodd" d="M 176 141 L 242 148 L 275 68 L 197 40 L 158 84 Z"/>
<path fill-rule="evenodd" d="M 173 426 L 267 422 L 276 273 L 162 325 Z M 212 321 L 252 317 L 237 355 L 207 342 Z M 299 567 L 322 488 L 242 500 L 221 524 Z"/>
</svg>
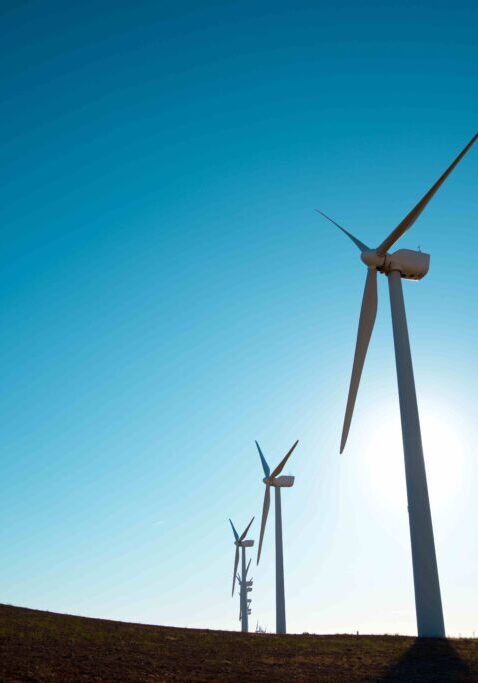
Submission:
<svg viewBox="0 0 478 683">
<path fill-rule="evenodd" d="M 377 316 L 377 271 L 375 268 L 369 268 L 367 279 L 365 280 L 365 289 L 363 292 L 362 308 L 360 310 L 359 327 L 357 332 L 357 342 L 355 345 L 354 364 L 352 367 L 352 376 L 350 378 L 349 395 L 347 399 L 347 408 L 345 409 L 344 426 L 342 429 L 342 440 L 340 442 L 340 452 L 345 448 L 347 436 L 352 421 L 352 414 L 354 411 L 355 399 L 357 398 L 357 391 L 362 375 L 365 356 L 372 336 L 375 318 Z"/>
</svg>

